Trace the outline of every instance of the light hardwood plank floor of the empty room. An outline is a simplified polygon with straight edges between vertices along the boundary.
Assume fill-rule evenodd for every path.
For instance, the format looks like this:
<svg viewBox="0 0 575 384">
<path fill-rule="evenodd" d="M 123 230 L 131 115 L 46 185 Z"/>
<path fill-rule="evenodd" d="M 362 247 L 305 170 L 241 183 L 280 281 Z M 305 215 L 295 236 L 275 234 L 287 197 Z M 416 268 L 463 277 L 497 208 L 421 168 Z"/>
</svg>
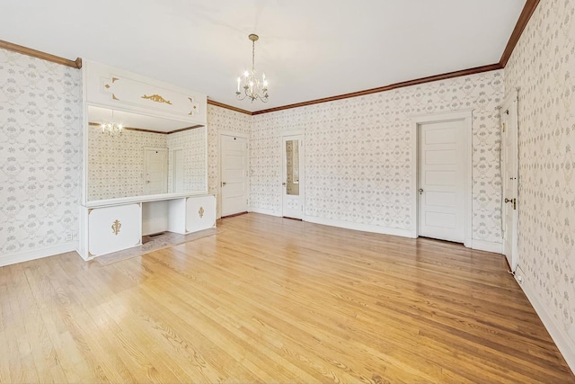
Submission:
<svg viewBox="0 0 575 384">
<path fill-rule="evenodd" d="M 0 268 L 0 382 L 574 382 L 503 256 L 247 214 Z"/>
</svg>

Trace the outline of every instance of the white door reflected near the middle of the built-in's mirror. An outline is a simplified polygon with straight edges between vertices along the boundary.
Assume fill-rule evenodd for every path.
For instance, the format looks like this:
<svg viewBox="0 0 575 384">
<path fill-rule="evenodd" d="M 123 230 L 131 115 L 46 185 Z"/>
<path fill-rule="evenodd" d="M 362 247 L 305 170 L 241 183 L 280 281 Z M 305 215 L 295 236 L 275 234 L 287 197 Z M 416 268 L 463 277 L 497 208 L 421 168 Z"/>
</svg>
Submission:
<svg viewBox="0 0 575 384">
<path fill-rule="evenodd" d="M 144 192 L 168 192 L 168 148 L 144 148 Z"/>
</svg>

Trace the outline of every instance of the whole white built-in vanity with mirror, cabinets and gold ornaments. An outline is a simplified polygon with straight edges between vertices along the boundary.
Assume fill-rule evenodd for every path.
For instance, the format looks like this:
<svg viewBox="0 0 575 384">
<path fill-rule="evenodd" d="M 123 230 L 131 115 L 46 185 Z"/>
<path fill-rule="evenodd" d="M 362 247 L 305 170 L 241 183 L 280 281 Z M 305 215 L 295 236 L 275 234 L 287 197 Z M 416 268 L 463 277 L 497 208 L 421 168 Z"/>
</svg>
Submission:
<svg viewBox="0 0 575 384">
<path fill-rule="evenodd" d="M 83 75 L 80 255 L 215 227 L 206 95 L 90 61 Z"/>
</svg>

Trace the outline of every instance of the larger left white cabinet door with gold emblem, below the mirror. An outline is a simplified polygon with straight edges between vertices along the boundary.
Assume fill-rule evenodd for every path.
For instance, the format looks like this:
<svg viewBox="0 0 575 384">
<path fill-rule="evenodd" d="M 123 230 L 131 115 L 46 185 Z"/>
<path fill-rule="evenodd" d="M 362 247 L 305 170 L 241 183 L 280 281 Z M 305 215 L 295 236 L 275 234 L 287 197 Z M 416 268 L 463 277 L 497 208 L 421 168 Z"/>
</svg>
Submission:
<svg viewBox="0 0 575 384">
<path fill-rule="evenodd" d="M 139 204 L 94 208 L 88 213 L 89 253 L 100 256 L 142 244 Z"/>
</svg>

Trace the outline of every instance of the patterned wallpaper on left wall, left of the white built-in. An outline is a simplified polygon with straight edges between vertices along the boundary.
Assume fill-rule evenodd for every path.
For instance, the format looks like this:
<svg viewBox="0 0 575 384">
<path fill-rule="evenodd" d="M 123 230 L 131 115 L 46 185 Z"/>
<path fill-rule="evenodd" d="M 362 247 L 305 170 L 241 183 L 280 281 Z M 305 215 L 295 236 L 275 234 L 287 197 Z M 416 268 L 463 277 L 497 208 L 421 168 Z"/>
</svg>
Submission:
<svg viewBox="0 0 575 384">
<path fill-rule="evenodd" d="M 77 240 L 77 69 L 0 49 L 0 255 Z"/>
</svg>

